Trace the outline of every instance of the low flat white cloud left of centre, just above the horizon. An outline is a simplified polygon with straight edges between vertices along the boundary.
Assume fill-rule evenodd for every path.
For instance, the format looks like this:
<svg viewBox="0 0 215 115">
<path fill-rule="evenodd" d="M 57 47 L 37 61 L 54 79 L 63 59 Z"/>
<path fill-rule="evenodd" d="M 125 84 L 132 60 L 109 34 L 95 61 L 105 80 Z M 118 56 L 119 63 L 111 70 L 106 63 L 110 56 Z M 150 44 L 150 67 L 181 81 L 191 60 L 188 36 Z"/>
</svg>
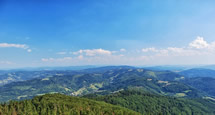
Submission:
<svg viewBox="0 0 215 115">
<path fill-rule="evenodd" d="M 61 64 L 111 64 L 116 62 L 116 60 L 120 62 L 120 58 L 124 56 L 115 53 L 116 51 L 104 49 L 81 49 L 76 52 L 71 52 L 73 54 L 71 57 L 42 58 L 41 61 Z"/>
</svg>

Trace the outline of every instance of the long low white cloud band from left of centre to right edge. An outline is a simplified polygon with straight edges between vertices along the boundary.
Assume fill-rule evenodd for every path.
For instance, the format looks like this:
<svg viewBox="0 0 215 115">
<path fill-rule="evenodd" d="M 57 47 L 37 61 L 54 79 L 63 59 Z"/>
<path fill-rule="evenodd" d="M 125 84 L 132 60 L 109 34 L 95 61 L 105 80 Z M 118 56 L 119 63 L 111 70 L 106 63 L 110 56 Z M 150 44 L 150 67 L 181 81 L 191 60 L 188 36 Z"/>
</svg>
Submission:
<svg viewBox="0 0 215 115">
<path fill-rule="evenodd" d="M 71 54 L 72 55 L 70 57 L 43 58 L 41 60 L 47 63 L 75 65 L 207 64 L 208 62 L 212 63 L 215 58 L 215 42 L 209 43 L 205 41 L 203 37 L 197 37 L 195 40 L 182 47 L 146 47 L 135 51 L 125 49 L 119 49 L 117 51 L 104 49 L 81 49 L 72 52 Z"/>
</svg>

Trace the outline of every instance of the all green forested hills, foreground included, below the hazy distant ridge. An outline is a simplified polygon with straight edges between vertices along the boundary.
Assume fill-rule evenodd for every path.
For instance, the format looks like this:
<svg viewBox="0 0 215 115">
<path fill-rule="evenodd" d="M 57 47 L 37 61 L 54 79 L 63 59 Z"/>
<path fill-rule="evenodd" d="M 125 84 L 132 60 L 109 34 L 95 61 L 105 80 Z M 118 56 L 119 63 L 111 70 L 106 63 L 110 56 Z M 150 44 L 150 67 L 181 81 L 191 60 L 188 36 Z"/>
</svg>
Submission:
<svg viewBox="0 0 215 115">
<path fill-rule="evenodd" d="M 48 72 L 0 86 L 0 102 L 30 99 L 2 104 L 0 115 L 215 114 L 214 78 L 132 67 Z"/>
</svg>

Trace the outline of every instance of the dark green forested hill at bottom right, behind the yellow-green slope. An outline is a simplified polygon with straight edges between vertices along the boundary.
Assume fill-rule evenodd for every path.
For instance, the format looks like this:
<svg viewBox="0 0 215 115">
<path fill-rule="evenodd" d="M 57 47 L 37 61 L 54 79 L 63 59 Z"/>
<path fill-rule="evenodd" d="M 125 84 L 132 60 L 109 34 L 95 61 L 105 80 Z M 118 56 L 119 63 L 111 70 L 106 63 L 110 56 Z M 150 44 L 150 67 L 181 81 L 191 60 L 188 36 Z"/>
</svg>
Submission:
<svg viewBox="0 0 215 115">
<path fill-rule="evenodd" d="M 143 114 L 215 114 L 215 102 L 210 100 L 173 98 L 138 90 L 120 91 L 105 96 L 90 94 L 85 97 L 120 105 Z"/>
</svg>

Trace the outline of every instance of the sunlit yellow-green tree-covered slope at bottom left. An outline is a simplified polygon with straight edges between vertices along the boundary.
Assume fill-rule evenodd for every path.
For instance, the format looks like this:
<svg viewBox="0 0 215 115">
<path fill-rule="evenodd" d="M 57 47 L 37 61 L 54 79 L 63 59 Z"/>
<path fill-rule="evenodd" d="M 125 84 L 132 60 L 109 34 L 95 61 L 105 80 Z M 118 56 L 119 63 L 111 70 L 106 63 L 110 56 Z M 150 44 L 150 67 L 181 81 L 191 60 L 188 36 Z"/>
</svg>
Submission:
<svg viewBox="0 0 215 115">
<path fill-rule="evenodd" d="M 0 115 L 140 115 L 132 110 L 62 94 L 37 96 L 32 100 L 0 105 Z"/>
</svg>

